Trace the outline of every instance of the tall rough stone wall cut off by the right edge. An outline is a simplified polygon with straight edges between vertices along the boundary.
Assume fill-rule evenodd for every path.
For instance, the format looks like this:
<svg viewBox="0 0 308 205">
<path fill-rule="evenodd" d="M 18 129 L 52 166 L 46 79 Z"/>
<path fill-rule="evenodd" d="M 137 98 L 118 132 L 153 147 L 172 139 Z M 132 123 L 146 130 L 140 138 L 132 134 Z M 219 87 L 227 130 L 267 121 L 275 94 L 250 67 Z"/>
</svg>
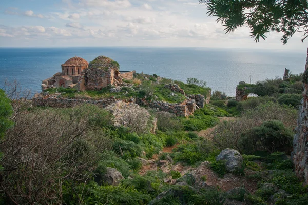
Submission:
<svg viewBox="0 0 308 205">
<path fill-rule="evenodd" d="M 295 173 L 308 185 L 308 50 L 303 83 L 302 106 L 299 109 L 297 133 L 293 139 L 292 159 L 295 166 Z"/>
</svg>

